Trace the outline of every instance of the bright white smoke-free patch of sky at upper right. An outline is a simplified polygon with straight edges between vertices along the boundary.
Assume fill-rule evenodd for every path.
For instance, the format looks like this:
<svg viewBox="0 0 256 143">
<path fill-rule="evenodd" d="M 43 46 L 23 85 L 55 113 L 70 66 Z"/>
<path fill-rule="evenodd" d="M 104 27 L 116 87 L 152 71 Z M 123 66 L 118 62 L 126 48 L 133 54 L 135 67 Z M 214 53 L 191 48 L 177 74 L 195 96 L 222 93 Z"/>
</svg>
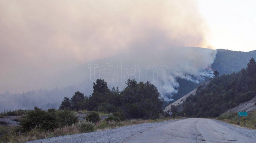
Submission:
<svg viewBox="0 0 256 143">
<path fill-rule="evenodd" d="M 216 49 L 256 50 L 256 0 L 198 0 Z"/>
</svg>

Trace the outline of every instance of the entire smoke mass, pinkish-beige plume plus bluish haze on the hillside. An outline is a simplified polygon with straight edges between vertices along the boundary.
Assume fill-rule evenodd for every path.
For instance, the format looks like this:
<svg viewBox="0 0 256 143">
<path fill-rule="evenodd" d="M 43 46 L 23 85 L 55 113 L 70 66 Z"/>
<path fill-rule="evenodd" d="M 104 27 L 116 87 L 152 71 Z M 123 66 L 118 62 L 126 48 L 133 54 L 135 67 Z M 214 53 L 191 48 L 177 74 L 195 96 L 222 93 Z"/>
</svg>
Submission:
<svg viewBox="0 0 256 143">
<path fill-rule="evenodd" d="M 43 94 L 29 94 L 36 101 L 38 96 L 46 100 L 31 106 L 59 97 L 61 101 L 72 96 L 71 91 L 90 94 L 90 61 L 95 61 L 97 70 L 104 65 L 112 65 L 116 72 L 122 69 L 117 77 L 107 75 L 117 81 L 108 81 L 109 87 L 124 87 L 127 72 L 131 72 L 129 78 L 136 75 L 138 81 L 149 80 L 165 94 L 175 92 L 177 76 L 200 81 L 199 75 L 206 74 L 204 69 L 216 54 L 207 49 L 177 48 L 209 47 L 207 26 L 196 1 L 191 0 L 1 0 L 0 33 L 0 93 L 47 89 Z M 118 61 L 122 61 L 121 68 Z M 155 76 L 143 77 L 154 75 L 150 72 L 157 68 L 143 70 L 143 65 L 145 69 L 163 68 L 158 70 L 158 82 L 154 82 Z M 123 77 L 122 82 L 118 76 Z M 70 85 L 70 91 L 48 93 L 48 89 Z M 17 100 L 21 96 L 25 95 L 17 94 Z M 16 104 L 15 99 L 5 97 L 12 101 L 0 99 L 0 108 Z"/>
</svg>

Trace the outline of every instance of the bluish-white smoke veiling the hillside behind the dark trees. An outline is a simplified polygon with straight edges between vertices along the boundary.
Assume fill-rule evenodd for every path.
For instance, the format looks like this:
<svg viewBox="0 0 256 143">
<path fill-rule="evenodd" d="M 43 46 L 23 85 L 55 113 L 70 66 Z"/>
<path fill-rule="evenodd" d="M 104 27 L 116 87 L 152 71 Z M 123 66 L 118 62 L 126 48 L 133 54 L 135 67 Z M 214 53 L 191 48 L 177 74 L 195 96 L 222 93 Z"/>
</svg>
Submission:
<svg viewBox="0 0 256 143">
<path fill-rule="evenodd" d="M 0 109 L 28 109 L 39 106 L 43 109 L 58 108 L 63 97 L 71 97 L 75 91 L 89 96 L 93 92 L 93 82 L 104 78 L 109 88 L 115 86 L 122 90 L 125 81 L 135 78 L 137 81 L 150 81 L 156 85 L 165 101 L 172 98 L 166 94 L 177 92 L 177 77 L 199 83 L 213 77 L 208 70 L 217 51 L 197 47 L 179 47 L 167 50 L 125 53 L 110 58 L 90 61 L 77 68 L 59 74 L 62 80 L 81 81 L 79 84 L 55 88 L 10 94 L 0 94 Z M 72 79 L 71 79 L 72 78 Z M 59 82 L 62 82 L 61 80 Z"/>
</svg>

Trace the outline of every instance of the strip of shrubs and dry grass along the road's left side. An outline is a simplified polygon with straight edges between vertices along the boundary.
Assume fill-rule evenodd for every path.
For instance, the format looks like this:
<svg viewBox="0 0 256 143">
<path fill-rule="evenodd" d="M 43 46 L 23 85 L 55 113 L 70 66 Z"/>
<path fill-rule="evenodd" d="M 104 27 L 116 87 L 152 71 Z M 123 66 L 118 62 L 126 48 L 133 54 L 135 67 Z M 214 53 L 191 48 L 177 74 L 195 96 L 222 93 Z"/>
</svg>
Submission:
<svg viewBox="0 0 256 143">
<path fill-rule="evenodd" d="M 49 116 L 49 114 L 52 113 L 52 110 L 53 109 L 50 109 L 48 111 L 43 111 L 39 108 L 35 108 L 35 110 L 30 111 L 30 113 L 28 113 L 22 118 L 23 120 L 22 122 L 20 122 L 20 126 L 18 127 L 0 125 L 0 136 L 1 136 L 0 143 L 20 143 L 20 142 L 25 142 L 30 140 L 38 140 L 38 139 L 51 138 L 56 136 L 88 133 L 93 131 L 103 131 L 103 130 L 115 129 L 123 126 L 152 123 L 152 122 L 162 122 L 165 120 L 170 120 L 170 116 L 169 117 L 161 116 L 159 119 L 148 119 L 148 120 L 127 119 L 127 120 L 120 121 L 118 118 L 113 116 L 112 113 L 106 114 L 106 113 L 99 113 L 99 112 L 93 111 L 93 112 L 86 112 L 88 114 L 83 120 L 73 120 L 72 122 L 69 122 L 72 124 L 68 124 L 68 122 L 66 122 L 65 125 L 63 124 L 63 126 L 61 126 L 60 124 L 56 124 L 60 119 L 58 120 L 56 118 L 55 120 L 52 120 L 53 116 L 51 117 Z M 58 113 L 63 111 L 55 110 L 55 112 Z M 66 110 L 66 112 L 72 112 L 72 111 Z M 40 115 L 38 117 L 39 113 L 43 115 Z M 72 112 L 70 115 L 75 115 L 73 113 L 78 113 L 78 112 Z M 66 115 L 65 119 L 70 118 L 69 117 L 70 115 Z M 105 119 L 101 119 L 100 115 L 108 116 L 108 117 Z M 33 121 L 35 122 L 30 122 L 31 120 L 29 119 L 32 119 L 32 118 L 38 118 L 38 119 L 33 119 Z M 172 117 L 172 119 L 179 119 L 179 118 L 180 117 L 178 118 Z M 66 120 L 66 121 L 70 121 L 70 120 Z M 54 123 L 54 126 L 52 123 Z M 59 127 L 55 127 L 56 125 L 59 125 Z"/>
</svg>

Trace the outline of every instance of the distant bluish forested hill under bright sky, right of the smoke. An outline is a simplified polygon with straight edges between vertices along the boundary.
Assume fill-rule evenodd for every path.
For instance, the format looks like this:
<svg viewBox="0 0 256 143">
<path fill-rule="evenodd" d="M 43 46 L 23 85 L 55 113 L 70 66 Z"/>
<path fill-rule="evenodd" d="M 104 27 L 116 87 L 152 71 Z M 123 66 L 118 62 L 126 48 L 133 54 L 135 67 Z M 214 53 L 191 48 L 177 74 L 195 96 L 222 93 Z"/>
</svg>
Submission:
<svg viewBox="0 0 256 143">
<path fill-rule="evenodd" d="M 256 50 L 251 52 L 230 51 L 219 49 L 216 58 L 211 67 L 217 70 L 220 75 L 238 72 L 246 68 L 248 61 L 256 59 Z"/>
</svg>

